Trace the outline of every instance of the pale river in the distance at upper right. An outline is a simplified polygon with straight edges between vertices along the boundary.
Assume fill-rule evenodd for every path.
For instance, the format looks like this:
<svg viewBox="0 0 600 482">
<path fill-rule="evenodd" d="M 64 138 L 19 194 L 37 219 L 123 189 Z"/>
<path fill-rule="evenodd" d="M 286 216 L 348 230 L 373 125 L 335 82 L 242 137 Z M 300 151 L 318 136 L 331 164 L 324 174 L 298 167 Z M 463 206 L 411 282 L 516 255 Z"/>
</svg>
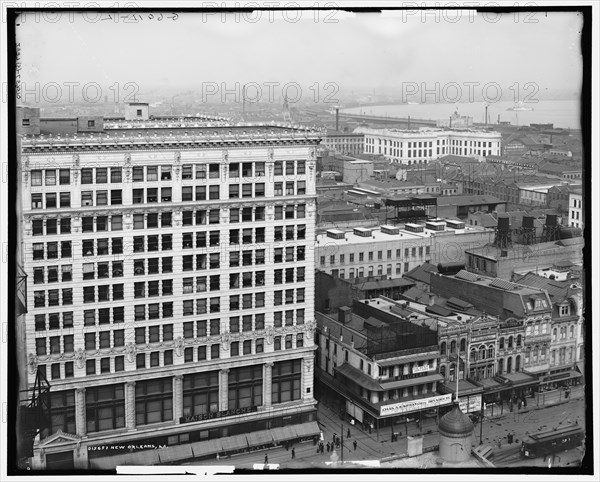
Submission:
<svg viewBox="0 0 600 482">
<path fill-rule="evenodd" d="M 533 110 L 511 111 L 515 107 L 514 102 L 499 101 L 488 104 L 488 123 L 496 124 L 498 117 L 500 122 L 510 122 L 512 125 L 526 126 L 533 124 L 554 124 L 554 127 L 564 129 L 580 129 L 579 100 L 540 100 L 538 102 L 527 102 L 523 107 Z M 383 117 L 408 116 L 413 119 L 449 119 L 458 111 L 460 115 L 473 118 L 475 123 L 485 121 L 484 102 L 461 102 L 461 103 L 431 103 L 431 104 L 398 104 L 398 105 L 365 105 L 341 109 L 341 112 L 349 114 L 376 115 Z"/>
</svg>

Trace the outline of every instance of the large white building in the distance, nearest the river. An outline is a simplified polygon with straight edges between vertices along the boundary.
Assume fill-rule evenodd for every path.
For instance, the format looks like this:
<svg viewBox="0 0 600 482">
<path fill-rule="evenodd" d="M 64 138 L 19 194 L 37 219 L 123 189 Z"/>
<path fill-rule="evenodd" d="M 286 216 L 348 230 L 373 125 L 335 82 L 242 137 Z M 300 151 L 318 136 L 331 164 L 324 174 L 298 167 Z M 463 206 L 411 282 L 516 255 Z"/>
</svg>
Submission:
<svg viewBox="0 0 600 482">
<path fill-rule="evenodd" d="M 502 136 L 499 132 L 474 129 L 416 130 L 358 128 L 365 136 L 364 152 L 381 154 L 400 164 L 426 164 L 429 161 L 455 154 L 458 156 L 486 156 L 500 154 Z"/>
</svg>

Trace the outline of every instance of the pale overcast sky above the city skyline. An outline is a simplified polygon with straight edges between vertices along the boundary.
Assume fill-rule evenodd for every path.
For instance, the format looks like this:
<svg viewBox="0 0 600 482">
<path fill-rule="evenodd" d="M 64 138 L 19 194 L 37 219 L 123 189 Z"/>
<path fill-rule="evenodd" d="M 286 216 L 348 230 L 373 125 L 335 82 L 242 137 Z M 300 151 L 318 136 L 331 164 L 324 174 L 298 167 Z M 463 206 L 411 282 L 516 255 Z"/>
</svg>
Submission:
<svg viewBox="0 0 600 482">
<path fill-rule="evenodd" d="M 575 13 L 479 14 L 471 22 L 463 11 L 458 22 L 448 12 L 448 19 L 429 14 L 422 22 L 419 14 L 334 12 L 326 19 L 321 11 L 315 22 L 314 12 L 303 11 L 295 23 L 266 11 L 180 13 L 177 20 L 165 12 L 160 22 L 143 13 L 136 23 L 47 15 L 21 18 L 17 27 L 25 82 L 136 82 L 141 93 L 236 81 L 337 82 L 347 93 L 402 82 L 536 82 L 541 91 L 577 92 L 581 83 L 582 19 Z"/>
</svg>

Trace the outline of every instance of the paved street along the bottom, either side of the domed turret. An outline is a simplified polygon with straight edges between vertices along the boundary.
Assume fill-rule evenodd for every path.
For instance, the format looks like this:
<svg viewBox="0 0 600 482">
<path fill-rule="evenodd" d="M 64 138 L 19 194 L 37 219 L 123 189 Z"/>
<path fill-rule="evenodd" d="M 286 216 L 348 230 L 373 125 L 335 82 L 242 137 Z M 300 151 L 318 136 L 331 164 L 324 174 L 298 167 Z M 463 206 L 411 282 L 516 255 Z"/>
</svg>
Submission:
<svg viewBox="0 0 600 482">
<path fill-rule="evenodd" d="M 508 408 L 504 408 L 503 414 L 500 415 L 495 409 L 494 416 L 486 417 L 483 421 L 482 443 L 493 445 L 496 452 L 496 460 L 494 463 L 499 466 L 507 465 L 546 465 L 543 460 L 523 460 L 517 454 L 518 448 L 521 445 L 521 439 L 527 433 L 535 432 L 552 428 L 557 425 L 564 425 L 575 422 L 585 424 L 585 401 L 583 397 L 582 387 L 573 388 L 568 401 L 564 400 L 564 395 L 557 393 L 546 394 L 545 406 L 536 407 L 535 401 L 528 402 L 527 409 L 521 411 L 510 412 Z M 529 399 L 533 400 L 533 399 Z M 488 410 L 491 415 L 491 410 Z M 338 413 L 335 413 L 323 403 L 319 404 L 318 423 L 323 431 L 325 442 L 331 441 L 333 434 L 340 435 L 342 420 Z M 343 422 L 344 427 L 344 460 L 393 460 L 407 453 L 407 438 L 408 435 L 423 434 L 423 448 L 433 447 L 439 444 L 439 434 L 437 431 L 437 423 L 435 418 L 423 419 L 423 431 L 419 430 L 416 423 L 407 425 L 401 424 L 395 427 L 396 432 L 400 432 L 401 436 L 398 441 L 391 441 L 391 428 L 380 430 L 379 434 L 375 430 L 369 433 L 368 430 L 363 431 L 358 425 L 351 426 L 347 422 Z M 347 430 L 350 428 L 351 436 L 347 437 Z M 508 444 L 508 434 L 514 435 L 512 444 Z M 480 424 L 475 424 L 473 433 L 473 444 L 479 445 Z M 353 442 L 357 441 L 357 449 L 354 450 Z M 498 448 L 500 442 L 500 448 Z M 214 465 L 235 465 L 237 468 L 252 469 L 254 464 L 263 464 L 265 455 L 268 455 L 269 464 L 279 464 L 281 468 L 304 468 L 311 467 L 324 468 L 326 462 L 331 459 L 332 453 L 325 450 L 323 454 L 317 454 L 317 447 L 312 442 L 296 444 L 295 458 L 292 459 L 291 447 L 286 450 L 283 447 L 275 447 L 267 450 L 261 450 L 252 453 L 244 453 L 234 455 L 232 457 L 221 457 L 219 460 L 214 460 Z M 516 455 L 517 454 L 517 455 Z M 341 460 L 341 450 L 336 449 L 336 455 Z M 572 451 L 570 454 L 561 454 L 560 461 L 555 460 L 554 465 L 566 465 L 577 463 L 581 459 L 581 452 L 578 450 Z M 200 462 L 190 462 L 189 465 L 209 465 L 210 461 L 202 460 Z M 188 465 L 185 464 L 185 465 Z"/>
</svg>

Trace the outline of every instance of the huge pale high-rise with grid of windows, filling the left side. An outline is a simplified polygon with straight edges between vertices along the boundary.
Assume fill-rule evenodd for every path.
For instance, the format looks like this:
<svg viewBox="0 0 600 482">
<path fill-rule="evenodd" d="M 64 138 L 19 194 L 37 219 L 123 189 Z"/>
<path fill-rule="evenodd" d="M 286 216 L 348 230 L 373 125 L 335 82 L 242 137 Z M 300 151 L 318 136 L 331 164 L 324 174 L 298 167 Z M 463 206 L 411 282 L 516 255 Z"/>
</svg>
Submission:
<svg viewBox="0 0 600 482">
<path fill-rule="evenodd" d="M 318 433 L 319 134 L 104 120 L 22 139 L 33 468 L 221 457 Z"/>
</svg>

